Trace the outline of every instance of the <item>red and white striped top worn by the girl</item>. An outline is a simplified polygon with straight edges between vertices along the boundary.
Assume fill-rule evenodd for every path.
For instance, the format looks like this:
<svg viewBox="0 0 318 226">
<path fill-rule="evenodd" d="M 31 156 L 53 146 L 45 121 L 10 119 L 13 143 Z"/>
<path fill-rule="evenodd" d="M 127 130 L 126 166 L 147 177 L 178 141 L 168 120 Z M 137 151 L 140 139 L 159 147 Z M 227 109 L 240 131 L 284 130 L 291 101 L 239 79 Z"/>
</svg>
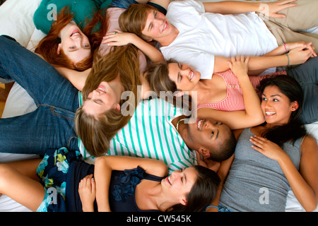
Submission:
<svg viewBox="0 0 318 226">
<path fill-rule="evenodd" d="M 205 104 L 201 104 L 198 105 L 197 109 L 210 107 L 224 112 L 244 111 L 245 105 L 243 100 L 242 88 L 240 87 L 240 83 L 238 82 L 237 77 L 234 75 L 234 73 L 232 73 L 231 70 L 228 70 L 222 73 L 214 74 L 221 76 L 224 79 L 226 87 L 228 89 L 228 93 L 224 100 L 221 100 L 220 102 L 208 102 Z M 278 71 L 276 73 L 271 73 L 262 77 L 249 76 L 249 80 L 251 81 L 253 87 L 257 88 L 263 78 L 276 75 L 287 75 L 287 73 L 286 71 Z M 261 97 L 261 93 L 259 93 L 259 91 L 257 91 L 257 93 L 259 97 Z"/>
</svg>

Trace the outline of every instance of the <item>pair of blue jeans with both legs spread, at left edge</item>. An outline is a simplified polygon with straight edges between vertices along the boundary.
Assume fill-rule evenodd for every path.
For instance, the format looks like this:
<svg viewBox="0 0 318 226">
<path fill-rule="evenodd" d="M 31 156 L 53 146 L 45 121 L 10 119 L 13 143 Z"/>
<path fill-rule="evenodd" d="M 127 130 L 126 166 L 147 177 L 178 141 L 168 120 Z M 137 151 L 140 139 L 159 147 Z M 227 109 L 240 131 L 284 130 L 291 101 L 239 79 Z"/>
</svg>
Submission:
<svg viewBox="0 0 318 226">
<path fill-rule="evenodd" d="M 0 36 L 0 77 L 14 79 L 37 109 L 0 119 L 0 152 L 39 154 L 61 147 L 78 150 L 73 119 L 78 90 L 53 66 L 18 42 Z"/>
</svg>

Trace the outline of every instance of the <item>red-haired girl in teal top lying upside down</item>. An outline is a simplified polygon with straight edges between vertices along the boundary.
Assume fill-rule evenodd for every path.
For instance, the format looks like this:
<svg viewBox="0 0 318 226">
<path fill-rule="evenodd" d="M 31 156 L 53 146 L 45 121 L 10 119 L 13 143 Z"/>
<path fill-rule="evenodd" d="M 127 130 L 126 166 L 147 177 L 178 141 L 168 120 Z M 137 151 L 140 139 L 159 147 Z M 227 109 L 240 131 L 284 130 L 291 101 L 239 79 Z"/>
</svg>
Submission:
<svg viewBox="0 0 318 226">
<path fill-rule="evenodd" d="M 76 71 L 89 69 L 93 52 L 107 30 L 107 18 L 102 16 L 105 12 L 99 9 L 109 4 L 110 1 L 43 0 L 33 20 L 35 27 L 47 36 L 35 52 L 53 66 Z"/>
</svg>

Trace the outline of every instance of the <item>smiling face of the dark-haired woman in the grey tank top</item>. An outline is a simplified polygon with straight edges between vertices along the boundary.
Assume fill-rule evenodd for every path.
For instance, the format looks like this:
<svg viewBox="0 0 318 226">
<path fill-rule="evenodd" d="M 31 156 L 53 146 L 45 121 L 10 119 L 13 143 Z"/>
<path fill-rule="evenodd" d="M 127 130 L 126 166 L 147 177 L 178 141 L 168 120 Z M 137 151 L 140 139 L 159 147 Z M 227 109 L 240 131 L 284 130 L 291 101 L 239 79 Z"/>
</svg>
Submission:
<svg viewBox="0 0 318 226">
<path fill-rule="evenodd" d="M 298 109 L 298 102 L 290 102 L 276 85 L 264 89 L 261 101 L 265 121 L 273 126 L 288 124 L 290 115 Z"/>
</svg>

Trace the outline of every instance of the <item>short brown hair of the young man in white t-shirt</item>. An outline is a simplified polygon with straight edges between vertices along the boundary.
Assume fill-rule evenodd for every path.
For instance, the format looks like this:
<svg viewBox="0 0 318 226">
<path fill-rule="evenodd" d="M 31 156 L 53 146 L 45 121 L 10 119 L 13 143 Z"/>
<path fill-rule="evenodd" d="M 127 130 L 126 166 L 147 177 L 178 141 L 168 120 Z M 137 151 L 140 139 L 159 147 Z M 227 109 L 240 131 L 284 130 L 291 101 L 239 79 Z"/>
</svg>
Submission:
<svg viewBox="0 0 318 226">
<path fill-rule="evenodd" d="M 148 40 L 150 37 L 143 35 L 142 30 L 146 27 L 148 11 L 157 10 L 155 7 L 148 4 L 131 4 L 126 11 L 119 16 L 119 28 L 123 32 L 131 32 L 143 40 Z"/>
</svg>

